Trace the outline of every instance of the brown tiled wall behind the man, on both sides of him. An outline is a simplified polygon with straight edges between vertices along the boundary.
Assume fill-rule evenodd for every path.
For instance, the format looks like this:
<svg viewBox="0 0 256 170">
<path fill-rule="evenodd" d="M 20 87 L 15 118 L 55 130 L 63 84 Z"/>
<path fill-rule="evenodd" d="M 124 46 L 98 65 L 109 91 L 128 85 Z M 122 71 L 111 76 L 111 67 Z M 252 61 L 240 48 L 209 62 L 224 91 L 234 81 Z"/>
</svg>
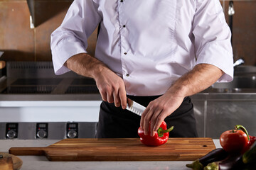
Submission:
<svg viewBox="0 0 256 170">
<path fill-rule="evenodd" d="M 0 0 L 0 51 L 6 61 L 50 61 L 50 33 L 63 21 L 73 0 L 35 0 L 36 28 L 30 28 L 26 0 Z M 228 1 L 220 0 L 228 22 Z M 234 1 L 234 60 L 256 65 L 256 1 Z M 93 55 L 96 31 L 89 38 L 88 51 Z"/>
</svg>

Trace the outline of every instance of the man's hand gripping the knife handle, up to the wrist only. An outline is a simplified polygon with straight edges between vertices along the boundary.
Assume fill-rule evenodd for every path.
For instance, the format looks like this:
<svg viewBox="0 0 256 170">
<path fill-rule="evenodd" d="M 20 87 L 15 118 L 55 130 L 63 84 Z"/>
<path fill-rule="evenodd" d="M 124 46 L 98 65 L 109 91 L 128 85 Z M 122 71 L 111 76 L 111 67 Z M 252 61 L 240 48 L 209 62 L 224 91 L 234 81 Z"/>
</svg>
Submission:
<svg viewBox="0 0 256 170">
<path fill-rule="evenodd" d="M 116 107 L 122 106 L 123 109 L 127 107 L 127 96 L 121 77 L 110 69 L 103 68 L 100 74 L 95 75 L 94 79 L 103 101 L 114 103 Z"/>
</svg>

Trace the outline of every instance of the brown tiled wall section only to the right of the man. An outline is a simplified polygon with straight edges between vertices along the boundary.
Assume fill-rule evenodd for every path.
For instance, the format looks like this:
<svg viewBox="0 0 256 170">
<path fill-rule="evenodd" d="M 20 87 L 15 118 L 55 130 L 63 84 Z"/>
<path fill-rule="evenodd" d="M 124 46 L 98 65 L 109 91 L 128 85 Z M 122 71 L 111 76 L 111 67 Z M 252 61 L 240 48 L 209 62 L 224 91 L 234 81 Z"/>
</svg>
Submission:
<svg viewBox="0 0 256 170">
<path fill-rule="evenodd" d="M 229 23 L 229 1 L 221 0 L 225 18 Z M 244 58 L 246 65 L 256 66 L 256 0 L 233 1 L 233 53 L 234 60 Z"/>
</svg>

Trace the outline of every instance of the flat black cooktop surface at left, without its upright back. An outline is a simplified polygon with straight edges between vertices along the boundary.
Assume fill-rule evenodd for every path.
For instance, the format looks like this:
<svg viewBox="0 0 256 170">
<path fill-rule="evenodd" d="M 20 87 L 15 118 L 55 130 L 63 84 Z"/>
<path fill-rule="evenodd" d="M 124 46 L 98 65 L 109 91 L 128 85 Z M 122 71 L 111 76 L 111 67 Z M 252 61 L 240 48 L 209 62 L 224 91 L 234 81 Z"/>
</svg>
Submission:
<svg viewBox="0 0 256 170">
<path fill-rule="evenodd" d="M 63 83 L 64 82 L 64 83 Z M 93 79 L 16 79 L 1 94 L 99 94 Z M 54 91 L 54 92 L 53 92 Z"/>
</svg>

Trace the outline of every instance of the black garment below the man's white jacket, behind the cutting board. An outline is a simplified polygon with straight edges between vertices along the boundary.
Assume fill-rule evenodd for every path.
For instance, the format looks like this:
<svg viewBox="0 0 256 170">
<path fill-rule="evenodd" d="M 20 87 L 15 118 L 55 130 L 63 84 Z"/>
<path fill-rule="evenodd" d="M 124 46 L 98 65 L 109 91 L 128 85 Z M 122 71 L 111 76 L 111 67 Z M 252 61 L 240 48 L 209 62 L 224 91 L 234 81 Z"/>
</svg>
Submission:
<svg viewBox="0 0 256 170">
<path fill-rule="evenodd" d="M 159 96 L 127 96 L 133 101 L 148 106 L 150 101 Z M 97 125 L 97 138 L 124 138 L 139 137 L 137 130 L 140 125 L 141 116 L 130 111 L 117 108 L 114 103 L 102 101 L 100 106 L 100 117 Z M 181 106 L 167 116 L 164 120 L 167 127 L 174 125 L 174 130 L 169 137 L 198 137 L 196 131 L 196 119 L 193 114 L 193 103 L 191 98 L 186 97 Z"/>
</svg>

